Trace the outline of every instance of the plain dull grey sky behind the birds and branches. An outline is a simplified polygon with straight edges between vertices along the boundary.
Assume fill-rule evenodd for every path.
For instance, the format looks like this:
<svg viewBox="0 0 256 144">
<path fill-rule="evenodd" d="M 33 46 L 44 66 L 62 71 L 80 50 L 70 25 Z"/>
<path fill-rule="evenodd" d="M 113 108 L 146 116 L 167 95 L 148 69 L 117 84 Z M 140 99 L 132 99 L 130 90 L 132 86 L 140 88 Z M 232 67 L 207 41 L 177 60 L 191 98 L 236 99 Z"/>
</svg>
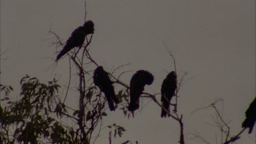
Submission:
<svg viewBox="0 0 256 144">
<path fill-rule="evenodd" d="M 68 58 L 55 65 L 56 48 L 48 31 L 66 41 L 83 25 L 84 16 L 84 1 L 2 0 L 1 83 L 12 85 L 18 93 L 20 78 L 29 74 L 44 83 L 56 77 L 62 87 L 67 85 Z M 214 123 L 214 110 L 191 114 L 217 98 L 224 100 L 218 106 L 229 121 L 231 135 L 240 132 L 244 112 L 255 98 L 255 1 L 89 0 L 87 19 L 95 24 L 91 56 L 108 72 L 131 63 L 122 69 L 131 71 L 122 76 L 127 84 L 137 70 L 152 72 L 155 80 L 147 92 L 160 92 L 165 70 L 174 70 L 163 42 L 169 47 L 177 74 L 188 72 L 179 98 L 186 143 L 199 143 L 189 139 L 192 132 L 220 143 L 215 135 L 218 129 L 209 126 Z M 104 119 L 104 126 L 116 123 L 126 128 L 124 136 L 113 143 L 177 143 L 177 121 L 161 119 L 160 108 L 154 102 L 145 103 L 132 119 L 119 110 Z M 108 141 L 108 130 L 104 130 L 96 143 Z M 250 135 L 246 130 L 237 142 L 255 143 L 255 129 Z"/>
</svg>

